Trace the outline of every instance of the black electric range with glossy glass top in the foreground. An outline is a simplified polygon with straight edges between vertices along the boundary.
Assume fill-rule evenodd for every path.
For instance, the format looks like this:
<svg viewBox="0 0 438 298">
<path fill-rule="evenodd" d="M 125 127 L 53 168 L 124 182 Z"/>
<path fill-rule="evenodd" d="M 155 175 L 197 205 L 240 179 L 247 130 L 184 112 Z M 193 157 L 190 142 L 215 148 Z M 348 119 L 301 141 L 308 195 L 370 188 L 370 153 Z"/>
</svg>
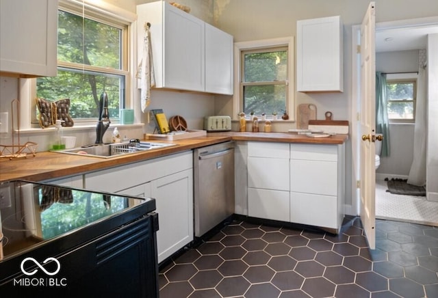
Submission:
<svg viewBox="0 0 438 298">
<path fill-rule="evenodd" d="M 1 183 L 0 288 L 155 297 L 154 211 L 152 198 L 23 180 Z"/>
</svg>

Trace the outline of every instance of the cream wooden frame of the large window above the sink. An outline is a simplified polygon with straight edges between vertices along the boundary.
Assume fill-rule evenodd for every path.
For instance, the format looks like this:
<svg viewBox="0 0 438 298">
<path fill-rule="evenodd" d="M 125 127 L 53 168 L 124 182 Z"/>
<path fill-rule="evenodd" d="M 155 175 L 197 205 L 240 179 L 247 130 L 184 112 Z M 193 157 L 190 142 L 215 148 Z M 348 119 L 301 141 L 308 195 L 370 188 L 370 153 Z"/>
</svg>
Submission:
<svg viewBox="0 0 438 298">
<path fill-rule="evenodd" d="M 74 64 L 70 62 L 57 62 L 57 68 L 75 68 L 83 69 L 91 72 L 101 72 L 106 74 L 116 74 L 125 77 L 125 94 L 120 98 L 120 109 L 129 108 L 133 105 L 133 93 L 131 88 L 131 74 L 129 68 L 131 66 L 129 62 L 129 56 L 131 51 L 131 35 L 132 23 L 136 21 L 136 14 L 127 12 L 121 8 L 110 3 L 94 3 L 95 1 L 84 0 L 59 0 L 58 10 L 68 12 L 70 14 L 76 14 L 79 16 L 85 16 L 86 18 L 110 25 L 121 29 L 120 33 L 120 69 L 107 70 L 107 68 L 101 68 L 96 66 L 88 66 L 83 64 Z M 105 70 L 105 72 L 103 72 Z M 38 118 L 36 118 L 36 79 L 27 79 L 29 85 L 29 96 L 26 96 L 29 100 L 29 124 L 23 123 L 25 127 L 39 128 Z M 97 118 L 75 118 L 75 126 L 88 126 L 95 124 Z M 113 121 L 113 120 L 112 120 Z M 117 120 L 114 119 L 114 123 Z"/>
</svg>

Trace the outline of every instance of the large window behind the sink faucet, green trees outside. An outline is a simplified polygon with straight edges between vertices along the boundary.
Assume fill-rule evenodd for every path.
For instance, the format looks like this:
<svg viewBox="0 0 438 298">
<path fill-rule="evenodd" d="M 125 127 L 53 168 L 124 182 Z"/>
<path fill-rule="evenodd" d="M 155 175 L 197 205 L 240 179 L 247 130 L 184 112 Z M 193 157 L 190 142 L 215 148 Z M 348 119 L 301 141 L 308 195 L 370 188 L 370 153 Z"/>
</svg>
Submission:
<svg viewBox="0 0 438 298">
<path fill-rule="evenodd" d="M 70 98 L 70 116 L 78 122 L 98 118 L 105 91 L 111 120 L 127 101 L 127 25 L 102 14 L 58 10 L 57 77 L 36 79 L 36 96 L 49 101 Z M 38 109 L 34 107 L 34 119 Z"/>
</svg>

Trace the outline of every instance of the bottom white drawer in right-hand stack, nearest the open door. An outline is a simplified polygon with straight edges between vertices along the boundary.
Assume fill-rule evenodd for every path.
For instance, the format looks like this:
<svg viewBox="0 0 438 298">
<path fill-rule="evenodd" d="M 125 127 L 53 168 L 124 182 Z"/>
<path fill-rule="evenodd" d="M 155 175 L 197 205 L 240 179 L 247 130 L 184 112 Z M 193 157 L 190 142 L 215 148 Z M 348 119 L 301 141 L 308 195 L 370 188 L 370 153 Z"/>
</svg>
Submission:
<svg viewBox="0 0 438 298">
<path fill-rule="evenodd" d="M 331 195 L 290 193 L 290 221 L 337 228 L 337 198 Z"/>
</svg>

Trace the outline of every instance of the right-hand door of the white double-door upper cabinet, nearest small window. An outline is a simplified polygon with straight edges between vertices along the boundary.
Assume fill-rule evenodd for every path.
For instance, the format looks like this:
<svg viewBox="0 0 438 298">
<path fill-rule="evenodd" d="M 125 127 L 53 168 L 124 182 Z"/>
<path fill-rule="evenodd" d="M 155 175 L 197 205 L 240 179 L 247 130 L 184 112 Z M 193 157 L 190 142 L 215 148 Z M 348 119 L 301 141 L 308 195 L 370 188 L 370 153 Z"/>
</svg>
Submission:
<svg viewBox="0 0 438 298">
<path fill-rule="evenodd" d="M 233 94 L 233 36 L 207 23 L 205 92 Z"/>
</svg>

